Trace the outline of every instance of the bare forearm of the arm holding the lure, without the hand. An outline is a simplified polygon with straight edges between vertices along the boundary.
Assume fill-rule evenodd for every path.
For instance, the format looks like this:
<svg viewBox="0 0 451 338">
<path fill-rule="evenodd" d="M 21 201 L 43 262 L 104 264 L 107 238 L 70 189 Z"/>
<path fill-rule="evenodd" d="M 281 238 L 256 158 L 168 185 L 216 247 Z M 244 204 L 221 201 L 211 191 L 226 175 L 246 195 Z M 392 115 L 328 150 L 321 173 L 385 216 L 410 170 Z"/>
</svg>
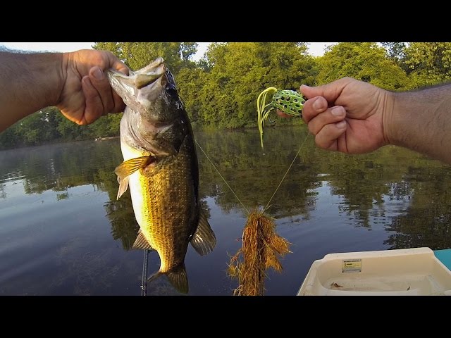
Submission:
<svg viewBox="0 0 451 338">
<path fill-rule="evenodd" d="M 390 144 L 451 164 L 451 84 L 393 93 L 393 113 L 384 129 Z"/>
</svg>

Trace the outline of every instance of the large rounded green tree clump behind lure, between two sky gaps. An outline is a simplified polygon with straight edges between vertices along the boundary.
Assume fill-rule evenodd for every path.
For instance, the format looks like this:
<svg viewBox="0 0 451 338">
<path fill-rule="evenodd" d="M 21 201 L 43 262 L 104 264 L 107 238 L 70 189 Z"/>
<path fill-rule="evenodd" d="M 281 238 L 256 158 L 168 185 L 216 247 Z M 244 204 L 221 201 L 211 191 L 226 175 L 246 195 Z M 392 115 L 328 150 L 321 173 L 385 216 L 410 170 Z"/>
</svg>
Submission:
<svg viewBox="0 0 451 338">
<path fill-rule="evenodd" d="M 204 75 L 178 78 L 180 88 L 202 81 L 197 92 L 183 93 L 188 111 L 199 124 L 234 128 L 256 126 L 256 99 L 266 87 L 314 84 L 316 65 L 302 43 L 231 42 L 211 44 L 199 70 Z"/>
</svg>

